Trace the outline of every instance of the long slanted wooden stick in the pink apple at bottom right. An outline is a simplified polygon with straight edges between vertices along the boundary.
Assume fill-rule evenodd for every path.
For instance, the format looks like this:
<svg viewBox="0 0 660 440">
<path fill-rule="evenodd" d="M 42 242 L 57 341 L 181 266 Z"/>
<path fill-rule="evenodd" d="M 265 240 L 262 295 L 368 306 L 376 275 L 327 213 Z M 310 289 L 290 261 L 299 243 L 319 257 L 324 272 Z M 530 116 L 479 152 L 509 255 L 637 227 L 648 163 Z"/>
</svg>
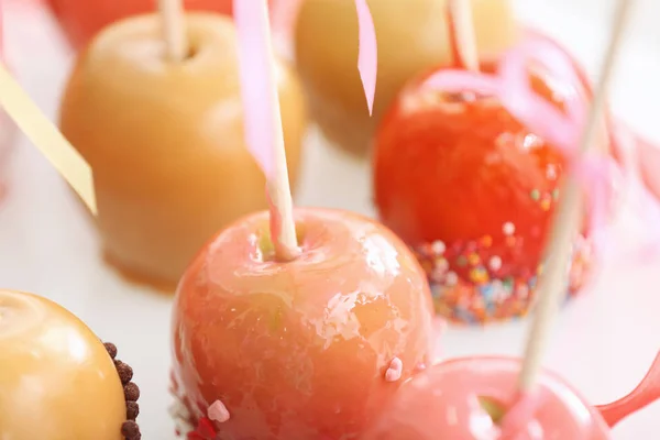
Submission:
<svg viewBox="0 0 660 440">
<path fill-rule="evenodd" d="M 580 142 L 579 157 L 587 152 L 597 135 L 614 65 L 619 53 L 624 30 L 632 0 L 618 0 L 609 46 L 590 109 L 586 127 Z M 560 298 L 565 293 L 566 272 L 571 263 L 571 243 L 582 222 L 582 188 L 574 176 L 566 176 L 547 249 L 548 260 L 539 279 L 538 304 L 525 349 L 525 361 L 518 377 L 521 393 L 531 391 L 541 367 L 541 358 L 548 336 L 558 315 Z"/>
</svg>

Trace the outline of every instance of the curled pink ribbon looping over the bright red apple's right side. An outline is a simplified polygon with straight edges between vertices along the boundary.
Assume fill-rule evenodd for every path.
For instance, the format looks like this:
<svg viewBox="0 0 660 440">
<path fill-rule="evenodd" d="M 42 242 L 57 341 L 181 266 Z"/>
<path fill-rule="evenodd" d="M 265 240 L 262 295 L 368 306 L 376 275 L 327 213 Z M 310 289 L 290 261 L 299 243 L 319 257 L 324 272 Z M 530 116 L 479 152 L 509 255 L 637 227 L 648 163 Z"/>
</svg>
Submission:
<svg viewBox="0 0 660 440">
<path fill-rule="evenodd" d="M 531 90 L 527 67 L 535 63 L 563 81 L 564 111 L 552 106 Z M 586 118 L 588 97 L 584 78 L 576 72 L 571 58 L 559 46 L 531 37 L 507 52 L 496 74 L 488 75 L 458 69 L 440 70 L 424 84 L 431 89 L 460 92 L 474 90 L 496 96 L 502 105 L 525 127 L 557 146 L 570 163 L 571 172 L 583 185 L 590 202 L 588 232 L 600 251 L 608 243 L 604 234 L 614 188 L 626 183 L 629 199 L 644 200 L 635 209 L 652 230 L 658 230 L 660 207 L 646 194 L 641 185 L 634 185 L 637 173 L 629 166 L 622 168 L 603 152 L 591 151 L 578 156 L 578 144 Z M 617 145 L 616 147 L 622 147 Z M 624 164 L 625 165 L 625 164 Z M 652 237 L 660 250 L 660 234 Z"/>
</svg>

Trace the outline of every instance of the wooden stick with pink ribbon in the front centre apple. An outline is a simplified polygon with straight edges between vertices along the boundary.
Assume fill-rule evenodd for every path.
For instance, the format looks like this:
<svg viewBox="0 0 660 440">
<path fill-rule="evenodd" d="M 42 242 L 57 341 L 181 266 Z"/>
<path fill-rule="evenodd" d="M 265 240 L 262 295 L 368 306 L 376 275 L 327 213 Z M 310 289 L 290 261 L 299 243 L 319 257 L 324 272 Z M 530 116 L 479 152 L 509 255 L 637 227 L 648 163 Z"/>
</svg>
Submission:
<svg viewBox="0 0 660 440">
<path fill-rule="evenodd" d="M 271 238 L 276 257 L 288 261 L 300 250 L 286 165 L 268 6 L 265 0 L 234 0 L 233 7 L 239 34 L 245 138 L 248 147 L 266 175 Z"/>
</svg>

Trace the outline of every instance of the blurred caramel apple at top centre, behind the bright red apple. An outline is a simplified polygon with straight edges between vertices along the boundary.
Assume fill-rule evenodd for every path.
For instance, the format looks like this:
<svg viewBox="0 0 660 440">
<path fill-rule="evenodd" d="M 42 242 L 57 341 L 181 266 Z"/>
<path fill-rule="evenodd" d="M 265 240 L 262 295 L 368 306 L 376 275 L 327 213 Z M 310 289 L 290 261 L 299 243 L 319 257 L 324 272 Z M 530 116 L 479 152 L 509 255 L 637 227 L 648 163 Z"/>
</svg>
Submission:
<svg viewBox="0 0 660 440">
<path fill-rule="evenodd" d="M 447 1 L 370 0 L 378 42 L 374 117 L 370 119 L 358 64 L 358 18 L 353 0 L 304 0 L 296 29 L 298 72 L 314 118 L 324 135 L 356 154 L 404 84 L 452 61 Z M 480 54 L 498 54 L 516 38 L 508 0 L 473 0 Z"/>
</svg>

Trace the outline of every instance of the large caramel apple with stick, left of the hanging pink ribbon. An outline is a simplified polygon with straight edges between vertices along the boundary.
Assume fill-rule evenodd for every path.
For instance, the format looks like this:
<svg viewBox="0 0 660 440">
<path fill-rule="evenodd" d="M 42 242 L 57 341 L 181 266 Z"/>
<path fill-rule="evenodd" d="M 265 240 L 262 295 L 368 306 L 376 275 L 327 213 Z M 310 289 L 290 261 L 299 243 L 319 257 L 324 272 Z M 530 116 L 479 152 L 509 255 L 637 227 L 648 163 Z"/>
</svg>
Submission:
<svg viewBox="0 0 660 440">
<path fill-rule="evenodd" d="M 267 206 L 244 142 L 233 23 L 195 13 L 186 25 L 180 64 L 165 59 L 156 15 L 108 28 L 81 54 L 61 109 L 63 134 L 94 170 L 108 260 L 173 289 L 219 228 Z M 304 98 L 292 70 L 276 72 L 295 185 Z"/>
</svg>

